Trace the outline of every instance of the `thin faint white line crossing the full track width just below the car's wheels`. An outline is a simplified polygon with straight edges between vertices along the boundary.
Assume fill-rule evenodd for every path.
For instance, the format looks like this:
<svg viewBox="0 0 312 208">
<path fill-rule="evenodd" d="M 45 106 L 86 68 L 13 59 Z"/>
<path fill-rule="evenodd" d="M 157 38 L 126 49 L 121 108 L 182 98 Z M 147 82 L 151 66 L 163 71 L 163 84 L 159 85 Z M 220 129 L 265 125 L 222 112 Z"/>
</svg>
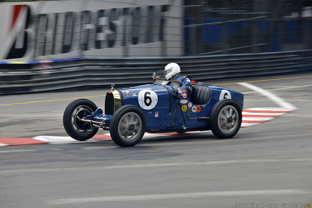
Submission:
<svg viewBox="0 0 312 208">
<path fill-rule="evenodd" d="M 120 168 L 150 168 L 150 167 L 172 167 L 172 166 L 189 166 L 189 165 L 215 165 L 215 164 L 232 164 L 232 163 L 256 163 L 256 162 L 298 162 L 312 161 L 312 158 L 288 158 L 288 159 L 246 159 L 246 160 L 220 160 L 220 161 L 190 161 L 190 162 L 167 162 L 167 163 L 140 163 L 134 165 L 112 165 L 112 166 L 90 166 L 90 167 L 63 167 L 63 168 L 41 168 L 41 169 L 16 169 L 0 170 L 0 174 L 13 172 L 63 172 L 63 171 L 104 171 L 107 169 Z"/>
</svg>

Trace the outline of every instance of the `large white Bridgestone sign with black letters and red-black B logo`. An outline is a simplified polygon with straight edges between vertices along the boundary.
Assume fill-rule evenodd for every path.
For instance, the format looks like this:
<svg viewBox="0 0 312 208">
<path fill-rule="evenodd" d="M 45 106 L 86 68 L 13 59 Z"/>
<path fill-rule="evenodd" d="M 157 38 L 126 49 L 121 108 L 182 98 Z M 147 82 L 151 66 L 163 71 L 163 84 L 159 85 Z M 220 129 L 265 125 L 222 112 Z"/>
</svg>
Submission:
<svg viewBox="0 0 312 208">
<path fill-rule="evenodd" d="M 128 2 L 2 3 L 0 60 L 181 56 L 181 0 Z"/>
</svg>

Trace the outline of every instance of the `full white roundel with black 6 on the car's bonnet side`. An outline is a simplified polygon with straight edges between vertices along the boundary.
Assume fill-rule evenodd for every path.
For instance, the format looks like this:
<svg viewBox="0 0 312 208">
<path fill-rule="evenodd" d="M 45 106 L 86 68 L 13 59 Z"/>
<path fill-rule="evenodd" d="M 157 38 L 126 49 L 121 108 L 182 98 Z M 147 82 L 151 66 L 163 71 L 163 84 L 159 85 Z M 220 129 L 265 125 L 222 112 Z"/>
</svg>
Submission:
<svg viewBox="0 0 312 208">
<path fill-rule="evenodd" d="M 140 106 L 145 109 L 153 109 L 158 101 L 157 94 L 150 89 L 143 89 L 139 92 L 138 100 Z"/>
</svg>

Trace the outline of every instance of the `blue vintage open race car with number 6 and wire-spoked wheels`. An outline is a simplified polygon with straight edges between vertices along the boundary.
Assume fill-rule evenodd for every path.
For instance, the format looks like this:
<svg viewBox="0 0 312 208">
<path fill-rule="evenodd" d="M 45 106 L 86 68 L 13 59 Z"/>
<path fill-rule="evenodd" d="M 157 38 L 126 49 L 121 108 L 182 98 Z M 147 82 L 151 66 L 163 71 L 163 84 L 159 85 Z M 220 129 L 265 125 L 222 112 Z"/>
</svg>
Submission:
<svg viewBox="0 0 312 208">
<path fill-rule="evenodd" d="M 105 98 L 105 114 L 90 100 L 74 100 L 63 116 L 66 132 L 85 141 L 103 128 L 121 147 L 136 145 L 145 132 L 212 130 L 218 138 L 236 135 L 241 126 L 243 94 L 224 87 L 193 84 L 188 95 L 181 81 L 163 77 L 163 70 L 158 70 L 153 84 L 124 89 L 114 89 L 112 84 Z"/>
</svg>

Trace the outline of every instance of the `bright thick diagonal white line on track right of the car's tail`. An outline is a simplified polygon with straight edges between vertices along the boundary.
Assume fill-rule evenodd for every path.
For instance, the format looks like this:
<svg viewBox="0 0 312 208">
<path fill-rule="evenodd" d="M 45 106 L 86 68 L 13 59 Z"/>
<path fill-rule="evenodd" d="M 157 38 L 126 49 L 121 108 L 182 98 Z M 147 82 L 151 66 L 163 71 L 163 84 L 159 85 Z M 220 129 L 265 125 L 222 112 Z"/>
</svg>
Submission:
<svg viewBox="0 0 312 208">
<path fill-rule="evenodd" d="M 273 102 L 275 102 L 276 104 L 278 104 L 282 108 L 297 110 L 297 108 L 294 105 L 286 102 L 284 99 L 276 96 L 275 94 L 273 94 L 273 93 L 271 93 L 265 89 L 262 89 L 260 87 L 255 86 L 255 85 L 251 85 L 250 83 L 247 83 L 247 82 L 241 82 L 241 83 L 237 83 L 237 84 L 242 85 L 246 88 L 252 89 L 252 90 L 266 96 L 267 98 L 271 99 Z"/>
</svg>

